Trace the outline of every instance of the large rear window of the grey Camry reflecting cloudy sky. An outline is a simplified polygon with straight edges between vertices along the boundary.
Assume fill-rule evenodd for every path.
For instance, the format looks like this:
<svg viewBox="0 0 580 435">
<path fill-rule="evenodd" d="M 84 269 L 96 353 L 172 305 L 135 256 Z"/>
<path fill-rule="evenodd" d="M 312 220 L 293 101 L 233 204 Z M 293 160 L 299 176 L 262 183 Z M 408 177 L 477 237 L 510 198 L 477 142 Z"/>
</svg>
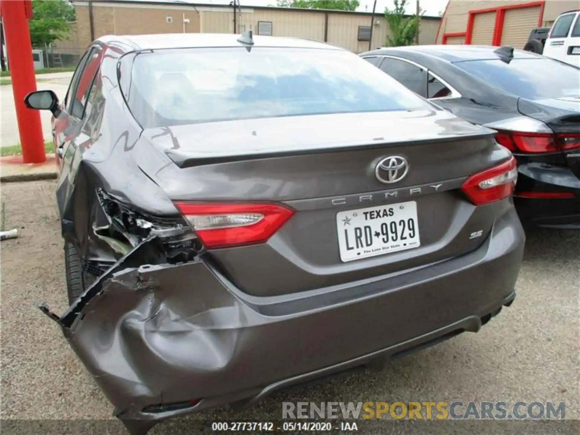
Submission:
<svg viewBox="0 0 580 435">
<path fill-rule="evenodd" d="M 122 61 L 122 60 L 121 60 Z M 133 61 L 129 107 L 144 128 L 231 119 L 430 108 L 339 50 L 171 49 Z"/>
</svg>

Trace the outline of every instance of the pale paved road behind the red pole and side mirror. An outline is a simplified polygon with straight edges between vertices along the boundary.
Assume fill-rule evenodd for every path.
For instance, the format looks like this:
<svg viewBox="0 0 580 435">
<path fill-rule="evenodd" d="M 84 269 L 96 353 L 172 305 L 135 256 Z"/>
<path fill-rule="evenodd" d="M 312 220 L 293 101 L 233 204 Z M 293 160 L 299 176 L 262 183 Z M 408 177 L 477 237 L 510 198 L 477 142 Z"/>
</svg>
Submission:
<svg viewBox="0 0 580 435">
<path fill-rule="evenodd" d="M 67 93 L 68 84 L 73 77 L 73 73 L 53 73 L 42 74 L 38 78 L 43 81 L 37 83 L 38 90 L 52 89 L 60 100 L 64 99 Z M 44 81 L 46 80 L 46 81 Z M 20 142 L 18 125 L 16 123 L 16 108 L 14 108 L 14 95 L 12 86 L 0 86 L 0 104 L 2 108 L 2 134 L 0 135 L 0 146 L 7 147 Z M 51 137 L 50 118 L 52 114 L 48 110 L 41 110 L 42 134 L 45 139 Z"/>
</svg>

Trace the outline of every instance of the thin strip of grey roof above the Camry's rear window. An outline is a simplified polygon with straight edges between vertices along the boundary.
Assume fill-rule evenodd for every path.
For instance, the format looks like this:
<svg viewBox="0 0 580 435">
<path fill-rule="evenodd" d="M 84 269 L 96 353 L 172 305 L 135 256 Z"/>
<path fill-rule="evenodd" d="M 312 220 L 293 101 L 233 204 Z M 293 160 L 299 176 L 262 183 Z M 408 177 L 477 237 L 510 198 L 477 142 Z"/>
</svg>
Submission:
<svg viewBox="0 0 580 435">
<path fill-rule="evenodd" d="M 220 33 L 165 33 L 155 35 L 108 35 L 99 38 L 107 43 L 113 41 L 124 42 L 137 50 L 155 50 L 166 48 L 206 48 L 206 47 L 235 47 L 244 46 L 238 42 L 240 35 Z M 281 38 L 253 35 L 255 47 L 287 47 L 287 48 L 314 48 L 325 50 L 343 50 L 342 48 L 311 41 L 302 38 Z"/>
</svg>

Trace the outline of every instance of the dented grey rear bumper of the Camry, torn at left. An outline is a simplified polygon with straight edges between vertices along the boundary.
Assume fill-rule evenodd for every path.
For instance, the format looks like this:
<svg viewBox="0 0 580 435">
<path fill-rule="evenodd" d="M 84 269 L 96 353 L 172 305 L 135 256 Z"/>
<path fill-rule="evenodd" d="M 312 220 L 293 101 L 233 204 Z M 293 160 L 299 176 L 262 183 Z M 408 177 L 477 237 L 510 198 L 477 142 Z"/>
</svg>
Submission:
<svg viewBox="0 0 580 435">
<path fill-rule="evenodd" d="M 242 293 L 209 259 L 126 269 L 90 300 L 67 338 L 115 415 L 143 433 L 162 419 L 251 403 L 477 331 L 512 302 L 524 238 L 508 208 L 467 255 L 271 298 Z M 193 398 L 201 400 L 187 404 Z"/>
</svg>

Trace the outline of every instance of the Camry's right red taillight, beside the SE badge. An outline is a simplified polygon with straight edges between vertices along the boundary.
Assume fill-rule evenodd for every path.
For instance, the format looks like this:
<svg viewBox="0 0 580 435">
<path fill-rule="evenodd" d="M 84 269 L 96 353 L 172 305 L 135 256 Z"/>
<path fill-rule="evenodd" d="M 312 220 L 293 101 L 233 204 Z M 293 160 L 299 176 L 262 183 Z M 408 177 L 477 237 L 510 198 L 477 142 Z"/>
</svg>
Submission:
<svg viewBox="0 0 580 435">
<path fill-rule="evenodd" d="M 461 190 L 473 204 L 488 204 L 509 197 L 516 186 L 516 180 L 516 159 L 512 156 L 501 165 L 473 174 L 465 180 Z"/>
</svg>

